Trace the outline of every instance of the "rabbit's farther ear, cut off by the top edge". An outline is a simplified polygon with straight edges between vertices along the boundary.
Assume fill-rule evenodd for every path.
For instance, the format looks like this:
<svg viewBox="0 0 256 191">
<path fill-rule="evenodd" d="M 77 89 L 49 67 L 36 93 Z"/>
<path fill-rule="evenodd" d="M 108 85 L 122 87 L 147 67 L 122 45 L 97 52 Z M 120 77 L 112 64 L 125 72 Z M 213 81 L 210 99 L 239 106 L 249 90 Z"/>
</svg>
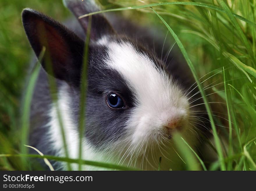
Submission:
<svg viewBox="0 0 256 191">
<path fill-rule="evenodd" d="M 80 22 L 84 31 L 87 31 L 89 18 L 83 17 L 79 19 L 81 15 L 99 11 L 98 6 L 93 0 L 63 0 L 65 6 L 75 15 L 75 17 Z M 92 40 L 98 40 L 103 35 L 113 35 L 115 34 L 112 26 L 109 24 L 107 19 L 102 14 L 96 14 L 92 16 L 92 24 L 90 31 L 90 38 Z"/>
</svg>

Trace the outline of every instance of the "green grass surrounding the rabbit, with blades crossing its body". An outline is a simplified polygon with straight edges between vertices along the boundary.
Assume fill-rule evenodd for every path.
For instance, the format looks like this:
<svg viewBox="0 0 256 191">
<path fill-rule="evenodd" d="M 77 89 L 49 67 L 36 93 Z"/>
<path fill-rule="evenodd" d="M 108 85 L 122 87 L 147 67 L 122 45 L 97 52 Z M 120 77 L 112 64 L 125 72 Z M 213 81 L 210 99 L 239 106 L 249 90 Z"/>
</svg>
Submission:
<svg viewBox="0 0 256 191">
<path fill-rule="evenodd" d="M 185 169 L 206 170 L 207 166 L 209 170 L 256 170 L 256 1 L 100 2 L 105 12 L 119 11 L 117 14 L 136 20 L 138 24 L 154 25 L 163 33 L 170 31 L 191 68 L 206 103 L 207 111 L 203 112 L 209 115 L 214 136 L 214 143 L 206 141 L 207 148 L 211 148 L 209 155 L 216 158 L 213 162 L 199 158 L 186 140 L 176 137 L 177 153 L 186 163 Z M 131 170 L 85 161 L 81 157 L 69 159 L 68 155 L 60 158 L 26 154 L 26 147 L 22 145 L 27 142 L 29 95 L 33 91 L 36 71 L 26 82 L 31 48 L 21 23 L 20 13 L 25 7 L 38 9 L 60 21 L 69 15 L 62 1 L 0 2 L 0 99 L 3 100 L 0 103 L 0 169 L 31 169 L 24 160 L 38 157 L 78 163 L 80 168 L 81 164 L 90 164 Z M 86 67 L 84 69 L 86 71 Z M 26 101 L 22 106 L 20 98 L 26 83 L 28 91 L 23 96 Z M 22 116 L 19 115 L 21 107 Z M 84 123 L 83 119 L 80 123 Z M 20 131 L 20 126 L 25 130 Z M 82 131 L 80 128 L 80 134 Z M 19 136 L 21 132 L 24 132 L 22 137 Z M 159 169 L 160 165 L 161 159 Z"/>
</svg>

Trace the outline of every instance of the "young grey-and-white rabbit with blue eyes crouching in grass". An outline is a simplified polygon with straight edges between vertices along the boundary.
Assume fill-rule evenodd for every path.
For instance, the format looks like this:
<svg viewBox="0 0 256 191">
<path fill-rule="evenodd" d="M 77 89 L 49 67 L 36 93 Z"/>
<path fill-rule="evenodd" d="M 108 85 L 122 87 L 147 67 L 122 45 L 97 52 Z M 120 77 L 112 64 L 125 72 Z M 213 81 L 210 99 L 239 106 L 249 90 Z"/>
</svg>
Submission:
<svg viewBox="0 0 256 191">
<path fill-rule="evenodd" d="M 37 58 L 45 47 L 31 101 L 29 144 L 46 155 L 65 156 L 59 110 L 68 157 L 76 159 L 81 71 L 90 20 L 77 18 L 100 8 L 92 0 L 64 3 L 76 17 L 67 26 L 37 10 L 25 8 L 22 12 Z M 90 26 L 82 158 L 156 170 L 161 157 L 161 170 L 182 169 L 173 133 L 181 133 L 191 147 L 197 147 L 200 135 L 196 129 L 204 132 L 206 128 L 200 121 L 193 123 L 193 116 L 199 114 L 191 116 L 191 112 L 205 108 L 198 88 L 191 88 L 195 80 L 181 54 L 170 51 L 155 29 L 116 15 L 93 15 Z M 50 91 L 49 79 L 56 81 L 56 92 Z M 51 93 L 58 97 L 58 108 Z M 56 170 L 67 169 L 65 162 L 51 163 Z M 78 164 L 71 167 L 77 170 Z M 83 165 L 82 169 L 106 168 Z"/>
</svg>

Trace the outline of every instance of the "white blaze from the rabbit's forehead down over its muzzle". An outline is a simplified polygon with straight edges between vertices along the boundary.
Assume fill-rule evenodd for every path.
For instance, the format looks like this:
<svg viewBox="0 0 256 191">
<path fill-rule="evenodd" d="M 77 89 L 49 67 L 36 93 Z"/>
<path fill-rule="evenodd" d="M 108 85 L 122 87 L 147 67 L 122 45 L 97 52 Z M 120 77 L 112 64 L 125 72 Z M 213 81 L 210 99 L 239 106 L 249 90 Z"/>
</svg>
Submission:
<svg viewBox="0 0 256 191">
<path fill-rule="evenodd" d="M 173 83 L 152 59 L 139 53 L 128 42 L 109 42 L 106 67 L 117 70 L 136 95 L 135 108 L 130 116 L 127 139 L 132 144 L 145 144 L 172 120 L 184 119 L 188 100 L 179 86 Z M 154 136 L 153 136 L 154 137 Z"/>
</svg>

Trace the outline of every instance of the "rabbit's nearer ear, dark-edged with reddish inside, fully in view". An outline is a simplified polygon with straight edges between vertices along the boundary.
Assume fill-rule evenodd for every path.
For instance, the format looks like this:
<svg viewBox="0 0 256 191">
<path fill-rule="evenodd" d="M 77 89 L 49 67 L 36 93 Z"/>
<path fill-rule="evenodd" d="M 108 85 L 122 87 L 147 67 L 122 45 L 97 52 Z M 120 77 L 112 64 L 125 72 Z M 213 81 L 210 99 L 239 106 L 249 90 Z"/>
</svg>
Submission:
<svg viewBox="0 0 256 191">
<path fill-rule="evenodd" d="M 41 61 L 46 72 L 67 82 L 79 83 L 83 41 L 62 24 L 36 10 L 24 9 L 22 22 L 36 56 L 43 47 L 46 48 Z"/>
</svg>

